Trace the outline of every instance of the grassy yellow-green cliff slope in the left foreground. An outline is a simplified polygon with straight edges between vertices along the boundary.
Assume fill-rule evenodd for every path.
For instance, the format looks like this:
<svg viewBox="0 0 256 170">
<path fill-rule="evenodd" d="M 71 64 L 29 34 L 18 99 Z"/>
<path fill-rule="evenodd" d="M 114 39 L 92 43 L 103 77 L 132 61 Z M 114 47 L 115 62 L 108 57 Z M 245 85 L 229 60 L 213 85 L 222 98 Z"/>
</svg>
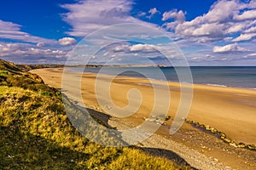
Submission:
<svg viewBox="0 0 256 170">
<path fill-rule="evenodd" d="M 61 93 L 0 59 L 0 169 L 189 169 L 131 147 L 90 142 L 69 122 Z"/>
</svg>

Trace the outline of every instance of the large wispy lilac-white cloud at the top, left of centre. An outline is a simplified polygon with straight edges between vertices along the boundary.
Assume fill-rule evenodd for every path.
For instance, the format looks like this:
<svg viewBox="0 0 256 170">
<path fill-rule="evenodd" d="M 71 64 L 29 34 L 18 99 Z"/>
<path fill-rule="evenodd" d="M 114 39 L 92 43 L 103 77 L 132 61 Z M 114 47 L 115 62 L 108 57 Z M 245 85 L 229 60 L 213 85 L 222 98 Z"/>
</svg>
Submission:
<svg viewBox="0 0 256 170">
<path fill-rule="evenodd" d="M 103 26 L 121 23 L 154 26 L 132 17 L 131 5 L 131 0 L 81 0 L 79 3 L 61 5 L 69 11 L 67 14 L 62 14 L 62 19 L 73 26 L 67 34 L 75 37 L 84 37 Z"/>
</svg>

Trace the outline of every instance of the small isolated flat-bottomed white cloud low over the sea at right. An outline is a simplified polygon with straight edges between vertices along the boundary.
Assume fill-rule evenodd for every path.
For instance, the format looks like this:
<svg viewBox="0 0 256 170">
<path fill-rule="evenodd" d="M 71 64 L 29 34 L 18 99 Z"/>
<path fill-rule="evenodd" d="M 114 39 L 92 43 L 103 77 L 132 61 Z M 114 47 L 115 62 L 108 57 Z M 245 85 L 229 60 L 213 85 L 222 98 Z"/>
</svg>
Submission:
<svg viewBox="0 0 256 170">
<path fill-rule="evenodd" d="M 229 44 L 225 46 L 215 46 L 213 47 L 214 53 L 229 53 L 229 52 L 248 52 L 247 48 L 240 47 L 237 43 Z"/>
</svg>

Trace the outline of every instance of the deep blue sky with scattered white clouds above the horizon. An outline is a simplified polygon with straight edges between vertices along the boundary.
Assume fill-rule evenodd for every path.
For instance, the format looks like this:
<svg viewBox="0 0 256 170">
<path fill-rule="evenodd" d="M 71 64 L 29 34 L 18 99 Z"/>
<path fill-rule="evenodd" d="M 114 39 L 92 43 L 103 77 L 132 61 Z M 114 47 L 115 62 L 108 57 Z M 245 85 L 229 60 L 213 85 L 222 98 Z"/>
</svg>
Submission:
<svg viewBox="0 0 256 170">
<path fill-rule="evenodd" d="M 136 23 L 166 33 L 190 65 L 256 65 L 255 0 L 4 0 L 0 4 L 0 58 L 15 63 L 65 63 L 69 52 L 91 32 Z M 154 47 L 123 43 L 105 48 L 108 53 L 95 59 L 129 55 L 134 48 L 146 55 Z M 160 59 L 159 54 L 155 58 Z"/>
</svg>

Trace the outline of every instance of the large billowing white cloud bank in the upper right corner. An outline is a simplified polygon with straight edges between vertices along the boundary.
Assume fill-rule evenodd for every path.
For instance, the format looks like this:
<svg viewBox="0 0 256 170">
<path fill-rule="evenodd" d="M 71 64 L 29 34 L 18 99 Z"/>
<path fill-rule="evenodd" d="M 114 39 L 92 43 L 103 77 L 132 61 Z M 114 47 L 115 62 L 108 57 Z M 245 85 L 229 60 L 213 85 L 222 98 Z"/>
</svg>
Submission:
<svg viewBox="0 0 256 170">
<path fill-rule="evenodd" d="M 174 21 L 166 22 L 163 26 L 187 39 L 201 37 L 211 42 L 213 37 L 218 41 L 228 40 L 226 37 L 235 37 L 233 42 L 251 40 L 254 35 L 245 33 L 255 31 L 256 10 L 254 8 L 256 7 L 253 6 L 254 4 L 253 1 L 242 3 L 240 1 L 219 0 L 212 4 L 207 14 L 190 21 L 184 21 L 182 13 L 178 14 L 177 10 L 172 10 L 164 13 L 162 20 L 174 19 Z M 179 20 L 183 21 L 180 22 Z"/>
</svg>

